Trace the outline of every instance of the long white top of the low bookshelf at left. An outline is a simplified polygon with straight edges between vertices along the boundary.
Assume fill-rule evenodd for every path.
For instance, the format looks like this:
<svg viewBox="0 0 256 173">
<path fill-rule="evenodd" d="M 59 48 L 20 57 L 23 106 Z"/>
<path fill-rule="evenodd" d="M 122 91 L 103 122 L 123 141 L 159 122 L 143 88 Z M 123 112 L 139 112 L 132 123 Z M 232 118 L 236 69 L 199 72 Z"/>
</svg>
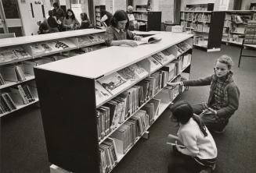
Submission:
<svg viewBox="0 0 256 173">
<path fill-rule="evenodd" d="M 33 36 L 24 36 L 24 37 L 12 37 L 12 38 L 3 38 L 0 40 L 0 48 L 6 46 L 14 46 L 20 44 L 31 44 L 40 41 L 52 41 L 55 39 L 67 38 L 67 37 L 78 37 L 86 34 L 96 34 L 102 33 L 105 30 L 96 30 L 96 29 L 85 29 L 85 30 L 70 30 L 59 33 L 51 34 L 40 34 Z"/>
</svg>

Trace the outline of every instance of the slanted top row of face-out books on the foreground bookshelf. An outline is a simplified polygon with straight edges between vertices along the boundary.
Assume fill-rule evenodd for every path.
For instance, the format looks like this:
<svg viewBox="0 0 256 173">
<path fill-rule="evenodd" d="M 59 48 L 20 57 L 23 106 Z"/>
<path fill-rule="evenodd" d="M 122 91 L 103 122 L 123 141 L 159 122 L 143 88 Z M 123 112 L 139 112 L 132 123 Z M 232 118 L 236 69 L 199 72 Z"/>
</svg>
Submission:
<svg viewBox="0 0 256 173">
<path fill-rule="evenodd" d="M 191 48 L 191 45 L 187 44 L 186 42 L 176 44 L 171 48 L 165 49 L 164 51 L 160 51 L 157 54 L 146 58 L 146 60 L 143 60 L 143 62 L 135 63 L 108 76 L 103 76 L 102 78 L 98 79 L 96 83 L 96 105 L 106 101 L 112 95 L 118 94 L 121 92 L 121 90 L 131 86 L 133 83 L 137 83 L 140 79 L 149 76 L 150 72 L 155 72 L 163 65 L 168 65 L 168 68 L 163 67 L 163 70 L 168 71 L 168 79 L 171 79 L 173 75 L 182 71 L 182 67 L 190 64 L 190 54 L 180 57 L 180 55 L 182 55 L 182 53 L 187 51 L 189 48 Z M 174 50 L 177 52 L 174 53 Z M 178 57 L 178 59 L 175 60 L 176 57 Z M 168 64 L 168 62 L 171 63 Z M 149 64 L 149 66 L 145 67 L 142 64 Z M 170 64 L 172 65 L 171 67 Z M 171 70 L 174 70 L 175 64 L 178 64 L 176 65 L 177 72 L 173 72 L 172 74 Z"/>
</svg>

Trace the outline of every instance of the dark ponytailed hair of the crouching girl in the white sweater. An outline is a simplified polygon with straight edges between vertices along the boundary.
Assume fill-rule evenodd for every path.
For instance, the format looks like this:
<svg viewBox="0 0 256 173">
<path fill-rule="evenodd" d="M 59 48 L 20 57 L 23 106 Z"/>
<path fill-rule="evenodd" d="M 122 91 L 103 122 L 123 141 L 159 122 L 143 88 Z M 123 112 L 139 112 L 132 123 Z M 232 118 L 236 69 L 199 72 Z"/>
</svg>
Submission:
<svg viewBox="0 0 256 173">
<path fill-rule="evenodd" d="M 199 126 L 201 132 L 203 132 L 204 136 L 207 136 L 206 128 L 204 122 L 202 122 L 201 118 L 197 115 L 193 115 L 193 108 L 186 101 L 178 101 L 177 103 L 171 106 L 172 118 L 175 118 L 177 122 L 181 124 L 186 124 L 189 122 L 190 118 L 193 118 L 197 125 Z"/>
</svg>

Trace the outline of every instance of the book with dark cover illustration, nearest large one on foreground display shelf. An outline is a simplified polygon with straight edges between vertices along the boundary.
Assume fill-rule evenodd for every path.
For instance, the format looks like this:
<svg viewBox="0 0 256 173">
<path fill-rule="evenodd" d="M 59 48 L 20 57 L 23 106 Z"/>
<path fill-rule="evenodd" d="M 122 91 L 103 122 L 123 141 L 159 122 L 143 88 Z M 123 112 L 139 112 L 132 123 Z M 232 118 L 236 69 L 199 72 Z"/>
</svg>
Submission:
<svg viewBox="0 0 256 173">
<path fill-rule="evenodd" d="M 117 94 L 124 88 L 128 87 L 130 84 L 117 72 L 110 74 L 109 76 L 104 76 L 98 80 L 99 83 L 111 94 Z"/>
</svg>

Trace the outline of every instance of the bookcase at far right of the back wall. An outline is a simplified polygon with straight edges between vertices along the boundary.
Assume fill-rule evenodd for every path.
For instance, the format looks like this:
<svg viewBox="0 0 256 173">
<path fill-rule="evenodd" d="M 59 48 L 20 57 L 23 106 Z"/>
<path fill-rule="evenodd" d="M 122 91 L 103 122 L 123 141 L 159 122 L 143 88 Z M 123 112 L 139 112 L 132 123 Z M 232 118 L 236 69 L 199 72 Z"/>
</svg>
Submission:
<svg viewBox="0 0 256 173">
<path fill-rule="evenodd" d="M 242 45 L 247 23 L 256 19 L 256 11 L 230 10 L 225 11 L 222 42 Z"/>
</svg>

